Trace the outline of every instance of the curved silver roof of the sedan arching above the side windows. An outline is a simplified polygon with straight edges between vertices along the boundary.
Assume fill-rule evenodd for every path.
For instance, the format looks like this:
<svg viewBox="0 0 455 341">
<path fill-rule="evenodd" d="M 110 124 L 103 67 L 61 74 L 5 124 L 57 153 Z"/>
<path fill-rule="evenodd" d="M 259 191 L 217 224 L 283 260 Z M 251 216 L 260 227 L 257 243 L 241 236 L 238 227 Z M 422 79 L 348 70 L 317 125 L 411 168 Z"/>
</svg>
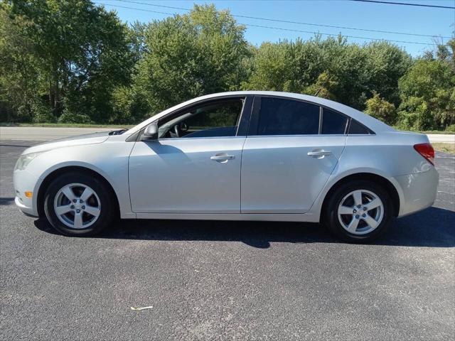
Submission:
<svg viewBox="0 0 455 341">
<path fill-rule="evenodd" d="M 134 128 L 129 130 L 129 133 L 134 134 L 136 131 L 142 129 L 144 126 L 147 126 L 156 119 L 164 117 L 166 114 L 169 114 L 175 110 L 181 109 L 182 107 L 186 107 L 189 104 L 194 104 L 199 101 L 205 99 L 215 99 L 217 97 L 225 97 L 225 96 L 252 96 L 252 95 L 260 95 L 260 96 L 276 96 L 276 97 L 288 97 L 294 99 L 302 99 L 307 102 L 312 102 L 314 104 L 319 104 L 324 107 L 328 107 L 334 109 L 338 112 L 342 112 L 343 114 L 352 117 L 353 119 L 359 121 L 360 123 L 368 126 L 371 130 L 378 132 L 378 131 L 393 131 L 394 129 L 391 126 L 387 126 L 387 124 L 371 117 L 370 115 L 364 114 L 357 109 L 348 107 L 347 105 L 331 101 L 330 99 L 325 99 L 321 97 L 309 96 L 308 94 L 295 94 L 293 92 L 277 92 L 277 91 L 234 91 L 234 92 L 218 92 L 215 94 L 206 94 L 205 96 L 196 97 L 190 99 L 189 101 L 183 102 L 181 104 L 177 104 L 174 107 L 168 108 L 164 110 L 164 112 L 160 112 L 159 114 L 154 115 L 153 117 L 146 119 L 145 121 L 141 122 Z"/>
</svg>

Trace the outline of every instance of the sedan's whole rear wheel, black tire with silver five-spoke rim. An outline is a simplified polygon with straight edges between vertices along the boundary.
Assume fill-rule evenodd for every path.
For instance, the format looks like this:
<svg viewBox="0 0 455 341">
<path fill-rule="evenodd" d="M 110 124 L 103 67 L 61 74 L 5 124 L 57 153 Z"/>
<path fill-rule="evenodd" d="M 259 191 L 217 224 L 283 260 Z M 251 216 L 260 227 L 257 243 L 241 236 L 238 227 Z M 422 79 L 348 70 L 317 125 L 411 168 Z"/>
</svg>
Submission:
<svg viewBox="0 0 455 341">
<path fill-rule="evenodd" d="M 392 217 L 390 195 L 376 183 L 358 180 L 332 193 L 323 222 L 347 242 L 370 242 L 385 232 Z"/>
</svg>

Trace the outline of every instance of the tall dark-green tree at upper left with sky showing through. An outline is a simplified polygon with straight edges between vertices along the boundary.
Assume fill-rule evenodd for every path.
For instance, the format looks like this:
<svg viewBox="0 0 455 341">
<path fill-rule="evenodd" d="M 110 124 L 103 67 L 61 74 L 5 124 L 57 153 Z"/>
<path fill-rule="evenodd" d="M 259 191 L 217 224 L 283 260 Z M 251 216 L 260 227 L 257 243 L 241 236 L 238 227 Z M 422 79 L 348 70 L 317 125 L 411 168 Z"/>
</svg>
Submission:
<svg viewBox="0 0 455 341">
<path fill-rule="evenodd" d="M 116 14 L 90 0 L 13 0 L 5 8 L 27 22 L 23 35 L 33 42 L 53 116 L 105 121 L 112 89 L 127 84 L 132 67 L 127 28 Z"/>
</svg>

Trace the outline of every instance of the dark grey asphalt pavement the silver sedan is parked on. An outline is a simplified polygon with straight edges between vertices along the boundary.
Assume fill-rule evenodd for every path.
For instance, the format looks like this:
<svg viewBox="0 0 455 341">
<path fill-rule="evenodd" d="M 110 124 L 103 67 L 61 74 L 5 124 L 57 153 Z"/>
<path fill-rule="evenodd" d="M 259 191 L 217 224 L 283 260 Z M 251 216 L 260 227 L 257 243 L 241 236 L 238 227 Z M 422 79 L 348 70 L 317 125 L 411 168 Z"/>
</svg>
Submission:
<svg viewBox="0 0 455 341">
<path fill-rule="evenodd" d="M 33 142 L 0 144 L 1 340 L 454 340 L 454 155 L 437 153 L 434 207 L 353 245 L 280 222 L 63 237 L 14 206 L 12 169 Z"/>
</svg>

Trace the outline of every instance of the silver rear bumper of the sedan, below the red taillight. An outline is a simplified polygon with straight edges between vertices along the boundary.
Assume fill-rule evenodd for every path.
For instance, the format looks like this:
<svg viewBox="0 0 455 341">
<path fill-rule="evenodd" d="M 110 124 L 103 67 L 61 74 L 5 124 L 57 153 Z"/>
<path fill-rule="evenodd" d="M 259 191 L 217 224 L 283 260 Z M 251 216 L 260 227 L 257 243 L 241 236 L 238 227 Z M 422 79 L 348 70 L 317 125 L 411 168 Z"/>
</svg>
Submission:
<svg viewBox="0 0 455 341">
<path fill-rule="evenodd" d="M 395 180 L 402 190 L 398 217 L 424 210 L 436 200 L 439 174 L 434 167 L 422 173 L 400 175 Z"/>
</svg>

